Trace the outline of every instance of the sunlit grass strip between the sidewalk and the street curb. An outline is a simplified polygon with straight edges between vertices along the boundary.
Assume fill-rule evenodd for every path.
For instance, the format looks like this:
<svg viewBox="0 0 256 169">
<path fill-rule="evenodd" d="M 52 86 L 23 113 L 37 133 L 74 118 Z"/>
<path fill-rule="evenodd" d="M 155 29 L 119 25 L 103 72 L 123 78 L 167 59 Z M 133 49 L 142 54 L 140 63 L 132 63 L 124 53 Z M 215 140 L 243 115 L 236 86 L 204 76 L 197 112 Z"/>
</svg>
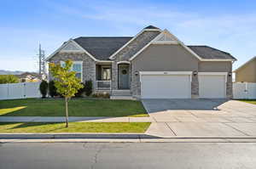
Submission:
<svg viewBox="0 0 256 169">
<path fill-rule="evenodd" d="M 146 132 L 150 122 L 0 123 L 0 133 Z"/>
</svg>

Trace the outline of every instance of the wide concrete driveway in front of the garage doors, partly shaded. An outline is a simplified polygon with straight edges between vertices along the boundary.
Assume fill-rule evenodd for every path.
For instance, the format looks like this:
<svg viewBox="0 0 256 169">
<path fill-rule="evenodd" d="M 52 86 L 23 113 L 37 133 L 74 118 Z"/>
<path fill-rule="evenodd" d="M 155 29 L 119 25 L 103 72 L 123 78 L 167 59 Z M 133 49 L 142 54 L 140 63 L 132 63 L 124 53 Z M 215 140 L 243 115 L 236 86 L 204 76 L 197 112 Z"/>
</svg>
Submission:
<svg viewBox="0 0 256 169">
<path fill-rule="evenodd" d="M 226 99 L 144 99 L 164 138 L 256 138 L 256 105 Z"/>
</svg>

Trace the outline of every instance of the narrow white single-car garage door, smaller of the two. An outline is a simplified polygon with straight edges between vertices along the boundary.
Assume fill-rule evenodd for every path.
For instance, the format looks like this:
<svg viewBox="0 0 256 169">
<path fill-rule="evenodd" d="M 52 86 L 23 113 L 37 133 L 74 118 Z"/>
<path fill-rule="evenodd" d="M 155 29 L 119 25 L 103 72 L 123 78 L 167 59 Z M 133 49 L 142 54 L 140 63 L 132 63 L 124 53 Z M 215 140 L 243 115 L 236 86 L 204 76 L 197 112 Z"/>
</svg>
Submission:
<svg viewBox="0 0 256 169">
<path fill-rule="evenodd" d="M 224 75 L 199 75 L 200 98 L 226 98 L 226 82 Z"/>
</svg>

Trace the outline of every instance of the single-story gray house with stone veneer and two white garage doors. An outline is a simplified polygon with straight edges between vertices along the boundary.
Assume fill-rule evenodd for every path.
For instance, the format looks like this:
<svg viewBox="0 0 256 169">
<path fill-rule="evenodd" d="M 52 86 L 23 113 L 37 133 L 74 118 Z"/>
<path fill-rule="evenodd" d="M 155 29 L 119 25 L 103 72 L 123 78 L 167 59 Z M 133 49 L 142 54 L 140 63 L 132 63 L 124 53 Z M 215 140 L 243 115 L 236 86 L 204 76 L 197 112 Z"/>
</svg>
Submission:
<svg viewBox="0 0 256 169">
<path fill-rule="evenodd" d="M 228 53 L 186 46 L 167 30 L 149 25 L 135 37 L 78 37 L 64 42 L 47 61 L 73 59 L 81 82 L 94 92 L 137 99 L 232 98 Z M 50 75 L 49 75 L 50 77 Z"/>
</svg>

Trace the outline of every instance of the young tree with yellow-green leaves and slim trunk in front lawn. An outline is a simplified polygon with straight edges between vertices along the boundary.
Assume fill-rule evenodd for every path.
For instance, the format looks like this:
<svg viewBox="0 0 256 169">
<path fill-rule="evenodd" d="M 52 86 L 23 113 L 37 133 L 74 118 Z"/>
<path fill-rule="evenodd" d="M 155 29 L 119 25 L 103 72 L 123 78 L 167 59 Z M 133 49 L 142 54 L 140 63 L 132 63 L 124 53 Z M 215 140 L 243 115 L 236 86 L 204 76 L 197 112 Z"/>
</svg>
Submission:
<svg viewBox="0 0 256 169">
<path fill-rule="evenodd" d="M 61 67 L 60 64 L 49 64 L 49 71 L 55 78 L 55 87 L 57 93 L 60 93 L 65 98 L 66 107 L 66 127 L 68 127 L 68 109 L 67 101 L 79 91 L 81 87 L 79 78 L 75 76 L 75 72 L 71 71 L 73 61 L 68 59 L 65 61 L 65 67 Z"/>
</svg>

